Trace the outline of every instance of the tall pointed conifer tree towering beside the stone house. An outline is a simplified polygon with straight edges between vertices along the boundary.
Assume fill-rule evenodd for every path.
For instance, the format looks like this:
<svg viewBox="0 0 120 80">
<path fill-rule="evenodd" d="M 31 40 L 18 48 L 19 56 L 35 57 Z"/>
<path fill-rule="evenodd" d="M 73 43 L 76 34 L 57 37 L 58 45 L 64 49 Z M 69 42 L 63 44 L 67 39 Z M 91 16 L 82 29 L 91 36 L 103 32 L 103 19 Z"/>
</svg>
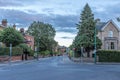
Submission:
<svg viewBox="0 0 120 80">
<path fill-rule="evenodd" d="M 83 46 L 87 52 L 87 56 L 90 56 L 90 50 L 94 49 L 94 39 L 95 39 L 95 26 L 96 22 L 94 20 L 94 15 L 88 4 L 85 5 L 84 10 L 81 13 L 80 21 L 77 24 L 78 33 L 73 41 L 73 46 L 76 48 L 81 48 Z M 97 32 L 96 32 L 97 34 Z M 97 48 L 100 48 L 101 41 L 96 36 Z"/>
</svg>

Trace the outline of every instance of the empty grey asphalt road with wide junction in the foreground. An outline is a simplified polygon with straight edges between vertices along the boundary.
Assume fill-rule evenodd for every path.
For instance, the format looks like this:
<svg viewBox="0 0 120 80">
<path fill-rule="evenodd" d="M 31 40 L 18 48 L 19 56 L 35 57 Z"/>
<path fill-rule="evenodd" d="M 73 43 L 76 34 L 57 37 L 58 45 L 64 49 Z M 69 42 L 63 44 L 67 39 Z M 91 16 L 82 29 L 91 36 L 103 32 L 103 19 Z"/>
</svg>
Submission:
<svg viewBox="0 0 120 80">
<path fill-rule="evenodd" d="M 120 80 L 120 65 L 74 63 L 67 56 L 0 67 L 0 80 Z"/>
</svg>

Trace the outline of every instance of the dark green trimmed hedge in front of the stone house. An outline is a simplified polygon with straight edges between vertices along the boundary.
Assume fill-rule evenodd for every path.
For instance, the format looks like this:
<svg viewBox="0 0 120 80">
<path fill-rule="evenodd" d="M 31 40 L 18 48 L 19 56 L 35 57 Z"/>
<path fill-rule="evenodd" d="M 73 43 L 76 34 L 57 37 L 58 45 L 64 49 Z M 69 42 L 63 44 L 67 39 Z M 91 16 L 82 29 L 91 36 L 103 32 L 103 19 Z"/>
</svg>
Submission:
<svg viewBox="0 0 120 80">
<path fill-rule="evenodd" d="M 99 62 L 120 62 L 120 51 L 98 50 Z"/>
</svg>

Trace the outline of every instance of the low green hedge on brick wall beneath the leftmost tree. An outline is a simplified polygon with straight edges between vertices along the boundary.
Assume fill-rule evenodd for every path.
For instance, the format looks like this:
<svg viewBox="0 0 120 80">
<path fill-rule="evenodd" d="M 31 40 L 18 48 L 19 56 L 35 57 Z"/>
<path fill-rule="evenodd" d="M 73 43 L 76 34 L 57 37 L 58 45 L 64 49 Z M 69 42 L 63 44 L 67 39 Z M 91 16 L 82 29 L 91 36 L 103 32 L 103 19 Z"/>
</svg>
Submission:
<svg viewBox="0 0 120 80">
<path fill-rule="evenodd" d="M 12 47 L 12 56 L 21 55 L 23 53 L 22 48 Z M 0 48 L 0 56 L 10 55 L 10 48 Z"/>
</svg>

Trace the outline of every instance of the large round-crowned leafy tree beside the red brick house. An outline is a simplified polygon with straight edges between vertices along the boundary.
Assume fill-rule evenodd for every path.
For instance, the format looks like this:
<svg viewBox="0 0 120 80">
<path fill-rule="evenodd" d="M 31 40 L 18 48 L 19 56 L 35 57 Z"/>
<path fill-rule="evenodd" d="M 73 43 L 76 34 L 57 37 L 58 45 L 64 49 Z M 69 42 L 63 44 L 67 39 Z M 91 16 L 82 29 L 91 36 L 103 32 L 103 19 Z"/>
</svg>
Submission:
<svg viewBox="0 0 120 80">
<path fill-rule="evenodd" d="M 56 44 L 56 41 L 54 41 L 56 31 L 50 24 L 34 21 L 29 26 L 27 33 L 34 36 L 35 45 L 39 47 L 40 51 L 51 51 Z"/>
</svg>

